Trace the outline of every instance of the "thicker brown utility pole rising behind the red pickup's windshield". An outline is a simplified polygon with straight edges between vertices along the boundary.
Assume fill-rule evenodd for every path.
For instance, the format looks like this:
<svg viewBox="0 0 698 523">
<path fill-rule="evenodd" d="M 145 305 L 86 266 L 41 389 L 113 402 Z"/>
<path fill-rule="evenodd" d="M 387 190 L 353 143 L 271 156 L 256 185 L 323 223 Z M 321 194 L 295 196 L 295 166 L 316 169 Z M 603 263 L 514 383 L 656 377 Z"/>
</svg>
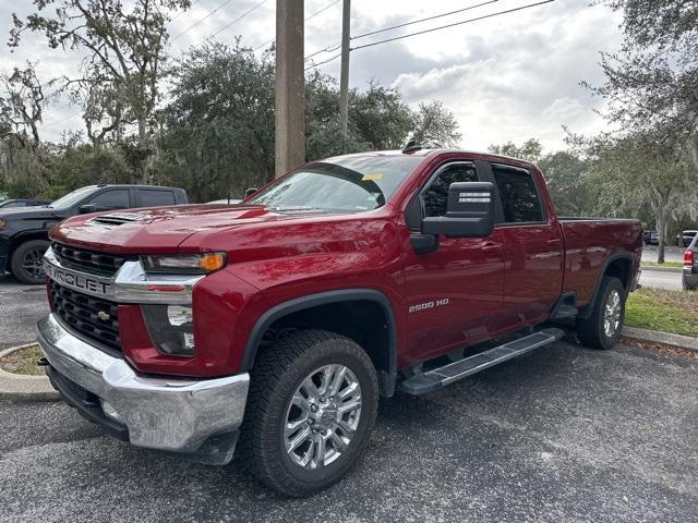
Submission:
<svg viewBox="0 0 698 523">
<path fill-rule="evenodd" d="M 276 0 L 275 175 L 305 161 L 303 0 Z"/>
</svg>

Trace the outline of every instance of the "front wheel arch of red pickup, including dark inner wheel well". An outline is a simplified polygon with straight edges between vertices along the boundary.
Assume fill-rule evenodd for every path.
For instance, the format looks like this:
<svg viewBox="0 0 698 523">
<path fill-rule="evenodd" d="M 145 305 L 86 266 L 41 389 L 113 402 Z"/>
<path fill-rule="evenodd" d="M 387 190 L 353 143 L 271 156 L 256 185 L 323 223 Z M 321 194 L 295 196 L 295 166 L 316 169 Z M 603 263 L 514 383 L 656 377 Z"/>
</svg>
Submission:
<svg viewBox="0 0 698 523">
<path fill-rule="evenodd" d="M 380 311 L 382 314 L 381 317 L 374 319 L 376 325 L 385 326 L 385 337 L 375 337 L 375 340 L 381 340 L 382 338 L 384 340 L 372 343 L 372 346 L 369 348 L 364 346 L 364 344 L 362 346 L 369 353 L 375 366 L 381 394 L 392 397 L 395 392 L 397 380 L 397 326 L 390 301 L 383 292 L 375 289 L 341 289 L 321 292 L 299 296 L 273 306 L 260 316 L 250 331 L 242 356 L 241 370 L 246 372 L 252 368 L 260 349 L 263 346 L 265 335 L 274 326 L 282 325 L 285 320 L 292 321 L 304 314 L 336 313 L 342 308 L 351 311 L 352 307 L 356 309 L 357 304 L 371 304 L 375 307 L 374 311 Z M 347 327 L 352 327 L 347 321 L 342 320 L 342 324 L 346 324 Z M 320 327 L 322 328 L 323 326 L 321 325 Z M 342 330 L 339 332 L 347 333 Z M 354 339 L 354 341 L 359 341 L 351 335 L 347 336 Z M 373 338 L 369 337 L 369 339 Z"/>
</svg>

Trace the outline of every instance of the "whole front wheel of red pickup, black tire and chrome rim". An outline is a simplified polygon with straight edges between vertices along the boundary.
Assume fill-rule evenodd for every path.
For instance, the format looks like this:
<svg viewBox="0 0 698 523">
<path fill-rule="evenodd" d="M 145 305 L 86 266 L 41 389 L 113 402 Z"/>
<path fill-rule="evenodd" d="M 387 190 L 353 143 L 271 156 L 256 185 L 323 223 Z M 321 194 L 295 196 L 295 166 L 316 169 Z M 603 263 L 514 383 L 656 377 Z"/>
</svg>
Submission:
<svg viewBox="0 0 698 523">
<path fill-rule="evenodd" d="M 288 333 L 251 372 L 240 454 L 286 496 L 322 490 L 365 448 L 377 401 L 375 369 L 361 346 L 324 330 Z"/>
</svg>

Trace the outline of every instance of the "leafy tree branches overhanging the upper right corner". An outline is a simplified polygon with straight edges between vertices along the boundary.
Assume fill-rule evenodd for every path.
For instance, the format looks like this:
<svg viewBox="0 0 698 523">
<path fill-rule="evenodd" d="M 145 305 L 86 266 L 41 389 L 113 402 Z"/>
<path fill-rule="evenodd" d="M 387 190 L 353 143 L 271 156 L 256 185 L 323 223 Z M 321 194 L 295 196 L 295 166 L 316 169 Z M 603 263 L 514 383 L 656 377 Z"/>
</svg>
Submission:
<svg viewBox="0 0 698 523">
<path fill-rule="evenodd" d="M 602 0 L 623 12 L 617 54 L 602 53 L 605 83 L 589 87 L 609 102 L 622 132 L 687 144 L 698 166 L 698 3 L 693 0 Z"/>
</svg>

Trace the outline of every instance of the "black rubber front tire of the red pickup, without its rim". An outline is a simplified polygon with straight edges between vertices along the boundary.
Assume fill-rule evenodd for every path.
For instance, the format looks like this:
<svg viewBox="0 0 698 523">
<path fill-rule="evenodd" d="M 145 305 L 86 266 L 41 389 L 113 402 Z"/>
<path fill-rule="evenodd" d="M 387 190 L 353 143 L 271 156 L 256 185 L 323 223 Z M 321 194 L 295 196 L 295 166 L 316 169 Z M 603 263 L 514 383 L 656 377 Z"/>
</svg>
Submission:
<svg viewBox="0 0 698 523">
<path fill-rule="evenodd" d="M 360 386 L 361 410 L 356 431 L 339 457 L 323 466 L 303 469 L 286 450 L 287 416 L 301 382 L 326 365 L 346 366 L 353 373 Z M 377 403 L 375 369 L 361 346 L 324 330 L 290 332 L 266 349 L 251 372 L 238 455 L 250 472 L 276 491 L 290 497 L 311 495 L 339 481 L 357 461 L 369 441 Z"/>
</svg>

